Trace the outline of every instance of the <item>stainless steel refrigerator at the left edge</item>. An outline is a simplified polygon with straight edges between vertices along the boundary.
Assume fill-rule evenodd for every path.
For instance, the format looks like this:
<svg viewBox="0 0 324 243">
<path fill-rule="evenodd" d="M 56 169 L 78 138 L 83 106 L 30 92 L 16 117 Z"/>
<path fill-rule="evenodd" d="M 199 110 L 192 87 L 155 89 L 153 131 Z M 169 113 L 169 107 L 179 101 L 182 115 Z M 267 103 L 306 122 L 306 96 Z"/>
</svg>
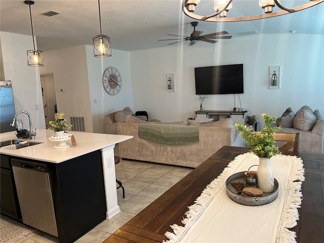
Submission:
<svg viewBox="0 0 324 243">
<path fill-rule="evenodd" d="M 15 115 L 11 81 L 0 81 L 0 133 L 16 131 L 10 123 Z"/>
</svg>

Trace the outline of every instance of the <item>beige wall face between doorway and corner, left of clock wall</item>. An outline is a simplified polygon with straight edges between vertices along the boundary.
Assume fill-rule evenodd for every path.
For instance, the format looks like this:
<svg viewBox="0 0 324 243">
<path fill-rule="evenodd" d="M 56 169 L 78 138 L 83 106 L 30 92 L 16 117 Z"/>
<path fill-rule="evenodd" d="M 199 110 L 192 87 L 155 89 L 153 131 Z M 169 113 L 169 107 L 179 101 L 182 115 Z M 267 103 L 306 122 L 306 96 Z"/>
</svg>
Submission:
<svg viewBox="0 0 324 243">
<path fill-rule="evenodd" d="M 41 74 L 54 74 L 58 112 L 64 112 L 68 124 L 71 116 L 85 117 L 86 132 L 93 132 L 86 46 L 46 51 L 43 56 Z"/>
</svg>

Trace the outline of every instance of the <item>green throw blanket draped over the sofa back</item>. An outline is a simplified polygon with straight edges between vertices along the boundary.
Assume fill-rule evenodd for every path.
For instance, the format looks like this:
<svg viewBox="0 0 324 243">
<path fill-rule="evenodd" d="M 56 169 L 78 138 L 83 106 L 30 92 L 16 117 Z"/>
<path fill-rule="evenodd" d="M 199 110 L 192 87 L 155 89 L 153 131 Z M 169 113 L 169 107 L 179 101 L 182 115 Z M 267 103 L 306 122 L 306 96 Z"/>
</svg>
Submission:
<svg viewBox="0 0 324 243">
<path fill-rule="evenodd" d="M 138 125 L 138 136 L 162 145 L 183 145 L 199 142 L 198 126 L 147 124 Z"/>
</svg>

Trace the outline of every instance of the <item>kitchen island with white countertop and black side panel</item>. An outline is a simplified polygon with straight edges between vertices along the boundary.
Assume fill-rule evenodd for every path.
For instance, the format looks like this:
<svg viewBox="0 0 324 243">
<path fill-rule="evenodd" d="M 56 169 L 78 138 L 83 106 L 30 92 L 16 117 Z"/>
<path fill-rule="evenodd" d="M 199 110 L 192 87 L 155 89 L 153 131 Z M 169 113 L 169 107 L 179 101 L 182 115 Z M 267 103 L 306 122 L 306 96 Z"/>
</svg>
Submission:
<svg viewBox="0 0 324 243">
<path fill-rule="evenodd" d="M 55 149 L 59 141 L 49 138 L 52 130 L 38 129 L 39 144 L 9 150 L 0 148 L 1 158 L 44 164 L 49 168 L 57 236 L 72 242 L 104 219 L 120 212 L 117 205 L 113 148 L 132 136 L 70 132 L 76 146 Z M 15 132 L 2 133 L 0 141 L 18 140 Z M 20 139 L 31 141 L 30 139 Z M 66 141 L 71 144 L 71 140 Z M 10 165 L 11 166 L 11 165 Z M 2 162 L 3 170 L 3 162 Z M 22 221 L 24 219 L 22 217 Z M 54 234 L 55 235 L 55 234 Z"/>
</svg>

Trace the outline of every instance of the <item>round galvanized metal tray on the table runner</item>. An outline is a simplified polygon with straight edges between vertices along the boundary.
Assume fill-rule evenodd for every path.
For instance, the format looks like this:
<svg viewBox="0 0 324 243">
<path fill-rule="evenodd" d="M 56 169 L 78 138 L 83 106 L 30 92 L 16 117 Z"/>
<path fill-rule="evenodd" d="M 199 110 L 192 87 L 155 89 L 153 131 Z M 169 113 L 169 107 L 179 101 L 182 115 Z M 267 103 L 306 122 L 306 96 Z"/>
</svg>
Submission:
<svg viewBox="0 0 324 243">
<path fill-rule="evenodd" d="M 262 196 L 251 196 L 245 197 L 238 194 L 237 190 L 231 185 L 232 182 L 243 182 L 245 183 L 244 177 L 245 171 L 235 173 L 227 178 L 226 180 L 226 194 L 231 198 L 235 203 L 246 205 L 246 206 L 261 206 L 269 204 L 275 200 L 278 196 L 278 187 L 279 183 L 274 179 L 274 190 L 271 193 L 263 193 Z M 257 185 L 258 186 L 258 185 Z"/>
</svg>

